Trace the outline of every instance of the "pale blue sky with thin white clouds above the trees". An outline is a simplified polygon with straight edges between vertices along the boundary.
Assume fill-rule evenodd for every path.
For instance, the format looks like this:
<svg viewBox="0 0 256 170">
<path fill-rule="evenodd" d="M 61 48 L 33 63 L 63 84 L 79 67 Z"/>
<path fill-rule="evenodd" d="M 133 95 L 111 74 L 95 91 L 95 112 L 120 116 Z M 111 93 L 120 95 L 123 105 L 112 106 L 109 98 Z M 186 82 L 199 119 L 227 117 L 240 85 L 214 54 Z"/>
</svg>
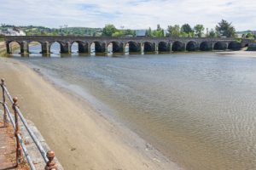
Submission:
<svg viewBox="0 0 256 170">
<path fill-rule="evenodd" d="M 0 24 L 15 26 L 155 29 L 157 24 L 214 28 L 224 19 L 236 31 L 256 30 L 256 0 L 0 0 Z"/>
</svg>

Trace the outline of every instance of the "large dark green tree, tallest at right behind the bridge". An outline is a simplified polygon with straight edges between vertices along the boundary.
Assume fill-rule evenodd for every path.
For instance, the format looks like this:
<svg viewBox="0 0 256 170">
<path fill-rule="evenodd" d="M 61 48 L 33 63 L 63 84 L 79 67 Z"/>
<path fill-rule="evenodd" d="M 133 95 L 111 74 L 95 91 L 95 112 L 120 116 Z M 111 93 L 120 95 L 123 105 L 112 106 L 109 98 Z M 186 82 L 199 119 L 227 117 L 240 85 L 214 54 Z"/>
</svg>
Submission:
<svg viewBox="0 0 256 170">
<path fill-rule="evenodd" d="M 236 29 L 232 26 L 232 23 L 221 20 L 218 25 L 216 26 L 215 30 L 217 31 L 218 35 L 223 37 L 236 37 Z"/>
</svg>

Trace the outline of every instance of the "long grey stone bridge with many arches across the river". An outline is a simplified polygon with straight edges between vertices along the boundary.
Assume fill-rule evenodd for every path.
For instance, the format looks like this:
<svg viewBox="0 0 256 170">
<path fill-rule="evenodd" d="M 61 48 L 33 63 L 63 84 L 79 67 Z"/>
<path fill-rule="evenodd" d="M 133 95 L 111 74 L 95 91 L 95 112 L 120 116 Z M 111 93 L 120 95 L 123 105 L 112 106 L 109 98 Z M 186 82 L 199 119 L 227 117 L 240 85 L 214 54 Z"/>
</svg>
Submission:
<svg viewBox="0 0 256 170">
<path fill-rule="evenodd" d="M 241 42 L 235 38 L 209 38 L 209 37 L 70 37 L 70 36 L 8 36 L 5 37 L 6 49 L 12 54 L 11 42 L 20 44 L 20 53 L 29 53 L 29 44 L 39 42 L 42 54 L 49 54 L 51 45 L 58 42 L 61 53 L 72 53 L 74 42 L 79 44 L 79 53 L 90 53 L 92 44 L 96 53 L 108 53 L 108 46 L 112 44 L 113 53 L 166 52 L 172 51 L 211 51 L 211 50 L 237 50 Z"/>
</svg>

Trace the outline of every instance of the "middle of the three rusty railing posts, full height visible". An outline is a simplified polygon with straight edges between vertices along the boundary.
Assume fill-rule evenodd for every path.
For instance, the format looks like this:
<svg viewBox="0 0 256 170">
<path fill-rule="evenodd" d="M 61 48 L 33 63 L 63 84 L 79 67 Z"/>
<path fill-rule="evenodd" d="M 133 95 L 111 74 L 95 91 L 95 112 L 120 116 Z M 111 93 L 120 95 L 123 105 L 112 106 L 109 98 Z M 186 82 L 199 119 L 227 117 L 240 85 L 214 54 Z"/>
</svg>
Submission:
<svg viewBox="0 0 256 170">
<path fill-rule="evenodd" d="M 18 107 L 18 98 L 15 97 L 13 99 L 14 104 L 13 104 L 13 110 L 15 112 L 15 138 L 16 138 L 16 161 L 17 161 L 17 166 L 22 162 L 22 150 L 20 146 L 20 140 L 18 135 L 20 135 L 20 126 L 19 126 L 19 119 L 18 119 L 18 112 L 16 110 L 16 107 Z"/>
</svg>

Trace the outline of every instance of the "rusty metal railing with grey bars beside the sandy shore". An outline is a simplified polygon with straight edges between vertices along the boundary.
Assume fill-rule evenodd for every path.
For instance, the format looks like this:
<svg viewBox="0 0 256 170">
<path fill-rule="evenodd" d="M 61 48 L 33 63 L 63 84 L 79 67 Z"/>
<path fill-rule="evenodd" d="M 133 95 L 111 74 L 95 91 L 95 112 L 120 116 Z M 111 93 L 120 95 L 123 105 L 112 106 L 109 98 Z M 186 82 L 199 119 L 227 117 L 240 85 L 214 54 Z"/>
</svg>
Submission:
<svg viewBox="0 0 256 170">
<path fill-rule="evenodd" d="M 1 85 L 1 88 L 3 91 L 3 101 L 0 101 L 0 104 L 3 105 L 3 127 L 8 127 L 9 121 L 10 121 L 15 129 L 17 166 L 19 166 L 20 163 L 22 162 L 22 155 L 24 155 L 26 157 L 26 161 L 27 161 L 30 169 L 36 170 L 36 168 L 34 167 L 34 164 L 32 162 L 32 158 L 31 158 L 31 156 L 29 156 L 28 151 L 26 150 L 26 145 L 24 144 L 24 141 L 20 135 L 19 122 L 21 121 L 23 123 L 24 127 L 26 127 L 27 133 L 29 133 L 32 141 L 34 142 L 34 144 L 36 144 L 38 151 L 40 152 L 41 156 L 44 159 L 44 162 L 46 164 L 45 170 L 57 170 L 57 166 L 54 161 L 55 152 L 51 151 L 51 150 L 49 150 L 48 152 L 45 152 L 42 144 L 40 143 L 40 141 L 38 140 L 36 135 L 32 132 L 31 128 L 28 126 L 28 124 L 26 122 L 26 119 L 22 115 L 22 113 L 19 109 L 19 105 L 18 105 L 18 98 L 17 97 L 12 98 L 12 96 L 9 94 L 9 91 L 5 85 L 4 79 L 1 79 L 0 85 Z M 7 105 L 6 96 L 8 97 L 9 102 L 12 105 L 12 110 L 14 111 L 14 114 L 12 114 L 11 111 L 9 110 L 9 107 Z M 14 119 L 14 116 L 15 116 L 15 119 Z M 9 117 L 9 119 L 8 119 L 8 117 Z M 20 121 L 19 121 L 19 118 L 20 118 Z"/>
</svg>

